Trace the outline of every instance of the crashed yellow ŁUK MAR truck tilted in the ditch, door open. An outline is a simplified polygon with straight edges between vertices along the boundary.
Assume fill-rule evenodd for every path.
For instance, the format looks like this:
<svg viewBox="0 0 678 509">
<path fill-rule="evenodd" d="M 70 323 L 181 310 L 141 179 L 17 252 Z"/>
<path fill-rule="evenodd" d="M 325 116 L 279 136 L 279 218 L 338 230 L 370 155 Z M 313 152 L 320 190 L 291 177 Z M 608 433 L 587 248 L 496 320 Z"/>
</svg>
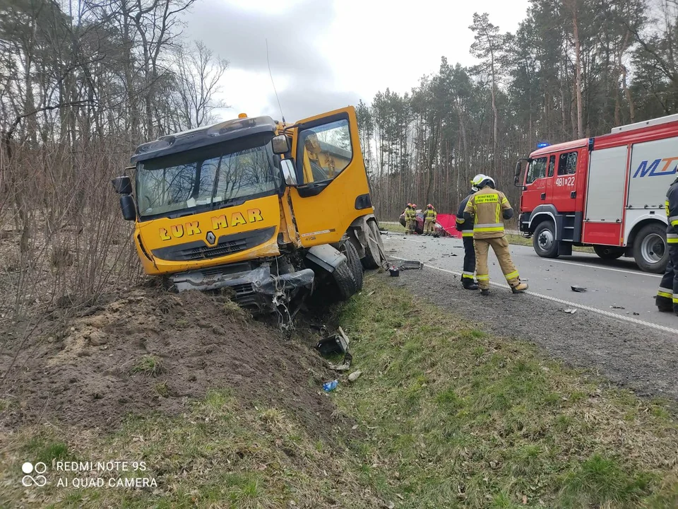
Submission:
<svg viewBox="0 0 678 509">
<path fill-rule="evenodd" d="M 239 118 L 142 144 L 113 180 L 146 274 L 255 312 L 345 300 L 385 262 L 355 109 Z M 134 187 L 134 189 L 132 188 Z"/>
</svg>

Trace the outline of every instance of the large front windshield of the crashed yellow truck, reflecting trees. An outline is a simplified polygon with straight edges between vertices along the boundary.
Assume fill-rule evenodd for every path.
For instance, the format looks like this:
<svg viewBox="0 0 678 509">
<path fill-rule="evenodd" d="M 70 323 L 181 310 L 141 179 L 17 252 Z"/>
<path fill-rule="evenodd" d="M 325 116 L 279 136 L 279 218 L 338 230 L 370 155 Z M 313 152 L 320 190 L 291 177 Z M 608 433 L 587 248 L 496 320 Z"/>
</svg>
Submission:
<svg viewBox="0 0 678 509">
<path fill-rule="evenodd" d="M 270 136 L 251 136 L 145 160 L 138 163 L 136 183 L 139 215 L 152 218 L 269 196 L 282 177 Z"/>
</svg>

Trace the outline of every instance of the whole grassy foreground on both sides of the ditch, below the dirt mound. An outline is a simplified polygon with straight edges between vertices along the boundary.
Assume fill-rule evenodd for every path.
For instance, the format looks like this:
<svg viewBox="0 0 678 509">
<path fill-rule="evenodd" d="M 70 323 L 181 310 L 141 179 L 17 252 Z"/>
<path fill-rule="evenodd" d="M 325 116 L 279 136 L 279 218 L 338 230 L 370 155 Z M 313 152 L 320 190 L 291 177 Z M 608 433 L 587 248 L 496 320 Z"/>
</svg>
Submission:
<svg viewBox="0 0 678 509">
<path fill-rule="evenodd" d="M 363 372 L 341 375 L 327 395 L 346 426 L 320 434 L 222 389 L 186 402 L 182 416 L 131 416 L 108 435 L 24 428 L 0 436 L 0 507 L 678 507 L 678 424 L 665 402 L 490 336 L 376 274 L 338 313 Z M 156 392 L 170 396 L 162 384 Z M 49 465 L 47 486 L 21 486 L 27 460 Z M 59 477 L 85 477 L 55 472 L 59 460 L 146 470 L 59 487 Z M 109 486 L 132 476 L 155 486 Z"/>
</svg>

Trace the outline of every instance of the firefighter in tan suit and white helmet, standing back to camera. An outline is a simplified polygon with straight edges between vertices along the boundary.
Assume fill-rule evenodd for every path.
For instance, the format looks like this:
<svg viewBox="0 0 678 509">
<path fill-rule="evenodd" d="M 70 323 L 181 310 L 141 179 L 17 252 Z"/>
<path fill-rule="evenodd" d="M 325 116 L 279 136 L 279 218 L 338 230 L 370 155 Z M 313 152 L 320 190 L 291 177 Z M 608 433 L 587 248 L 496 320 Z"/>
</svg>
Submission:
<svg viewBox="0 0 678 509">
<path fill-rule="evenodd" d="M 489 269 L 487 254 L 492 246 L 501 271 L 511 286 L 513 293 L 521 293 L 528 289 L 527 283 L 521 281 L 516 266 L 511 260 L 509 242 L 504 233 L 504 219 L 513 217 L 513 209 L 504 193 L 494 189 L 494 179 L 485 176 L 477 185 L 479 191 L 472 195 L 464 209 L 464 223 L 473 221 L 473 241 L 478 285 L 482 295 L 489 295 Z"/>
</svg>

